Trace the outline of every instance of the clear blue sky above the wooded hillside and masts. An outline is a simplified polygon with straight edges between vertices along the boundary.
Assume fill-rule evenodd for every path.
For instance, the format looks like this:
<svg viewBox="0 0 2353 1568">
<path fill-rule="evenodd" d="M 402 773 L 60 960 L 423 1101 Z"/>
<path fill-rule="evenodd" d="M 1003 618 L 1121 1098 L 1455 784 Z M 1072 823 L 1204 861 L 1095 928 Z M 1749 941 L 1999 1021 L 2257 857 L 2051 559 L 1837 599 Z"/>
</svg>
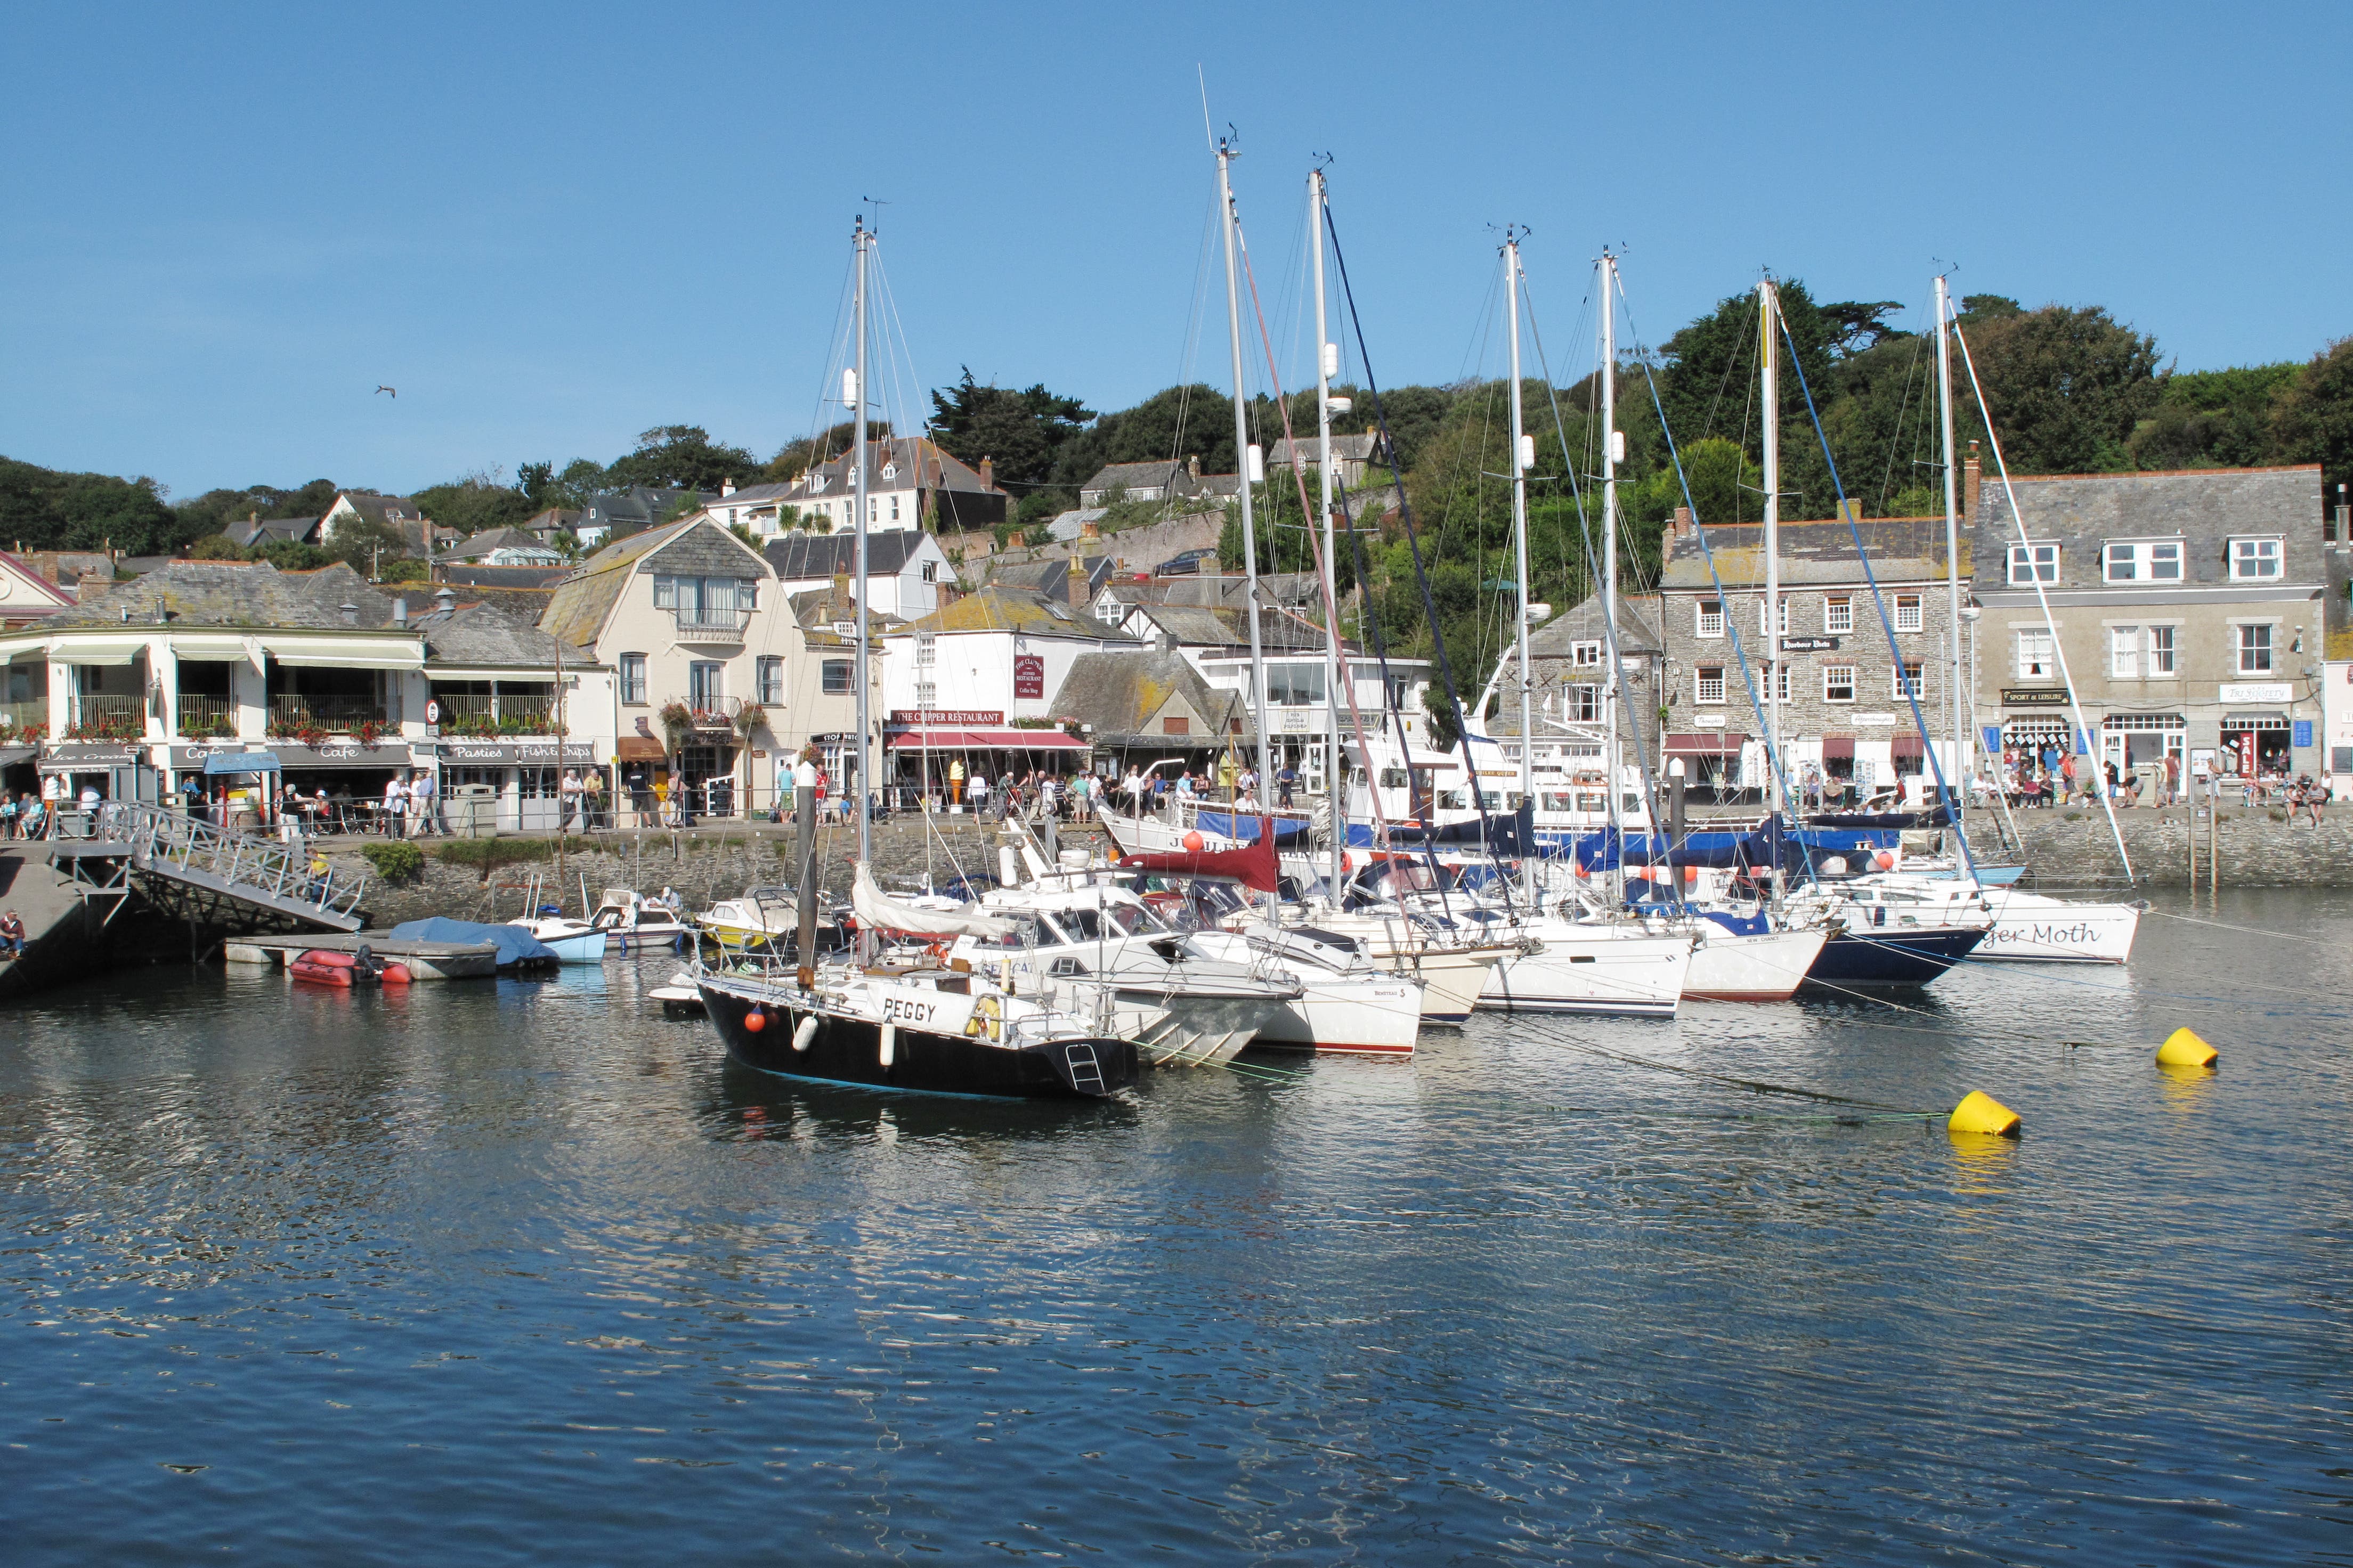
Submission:
<svg viewBox="0 0 2353 1568">
<path fill-rule="evenodd" d="M 1332 167 L 1374 369 L 1445 381 L 1489 223 L 1567 336 L 1817 299 L 2104 303 L 2184 369 L 2353 331 L 2337 5 L 24 7 L 0 451 L 414 489 L 812 423 L 849 219 L 915 369 L 1113 409 L 1186 369 L 1217 122 L 1261 282 Z M 2332 101 L 2337 99 L 2337 101 Z M 1195 374 L 1224 381 L 1205 353 Z M 376 383 L 400 397 L 372 395 Z"/>
</svg>

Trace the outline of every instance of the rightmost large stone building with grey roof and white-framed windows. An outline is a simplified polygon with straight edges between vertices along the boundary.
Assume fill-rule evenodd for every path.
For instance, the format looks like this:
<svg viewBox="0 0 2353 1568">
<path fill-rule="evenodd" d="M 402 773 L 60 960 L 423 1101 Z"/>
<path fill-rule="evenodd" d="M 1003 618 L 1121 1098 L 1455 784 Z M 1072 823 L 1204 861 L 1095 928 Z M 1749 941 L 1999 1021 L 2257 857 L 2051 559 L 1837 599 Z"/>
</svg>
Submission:
<svg viewBox="0 0 2353 1568">
<path fill-rule="evenodd" d="M 2320 468 L 2045 475 L 1974 508 L 1984 745 L 2066 743 L 2153 785 L 2165 757 L 2322 773 Z M 2042 599 L 2049 616 L 2042 614 Z"/>
</svg>

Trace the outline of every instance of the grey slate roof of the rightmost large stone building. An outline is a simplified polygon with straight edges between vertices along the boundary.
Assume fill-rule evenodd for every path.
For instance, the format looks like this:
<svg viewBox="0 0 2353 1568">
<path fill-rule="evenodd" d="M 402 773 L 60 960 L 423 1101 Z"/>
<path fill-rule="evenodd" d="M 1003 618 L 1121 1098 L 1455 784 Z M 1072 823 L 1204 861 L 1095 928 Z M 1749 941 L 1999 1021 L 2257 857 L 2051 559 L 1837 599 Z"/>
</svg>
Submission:
<svg viewBox="0 0 2353 1568">
<path fill-rule="evenodd" d="M 2228 583 L 2233 534 L 2285 536 L 2280 583 L 2322 581 L 2320 465 L 2205 468 L 2177 473 L 2012 477 L 2026 534 L 2057 541 L 2059 588 L 2101 583 L 2101 541 L 2186 541 L 2188 583 Z M 1977 496 L 1977 588 L 2000 592 L 2009 578 L 2009 498 L 1986 480 Z M 1967 562 L 1962 562 L 1967 571 Z M 2028 590 L 2031 592 L 2031 590 Z"/>
</svg>

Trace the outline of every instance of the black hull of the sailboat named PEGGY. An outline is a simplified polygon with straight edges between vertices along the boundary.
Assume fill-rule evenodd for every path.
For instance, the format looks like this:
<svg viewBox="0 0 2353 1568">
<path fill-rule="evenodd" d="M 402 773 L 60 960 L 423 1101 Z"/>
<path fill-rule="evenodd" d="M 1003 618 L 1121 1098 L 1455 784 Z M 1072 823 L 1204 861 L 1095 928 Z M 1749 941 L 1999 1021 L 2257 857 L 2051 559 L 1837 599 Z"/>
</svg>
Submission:
<svg viewBox="0 0 2353 1568">
<path fill-rule="evenodd" d="M 793 1079 L 995 1100 L 1099 1100 L 1129 1088 L 1139 1077 L 1136 1046 L 1125 1039 L 1000 1046 L 908 1025 L 889 1025 L 892 1060 L 885 1065 L 885 1025 L 878 1020 L 762 1001 L 711 980 L 696 990 L 729 1058 Z M 758 1030 L 746 1027 L 753 1013 L 762 1018 Z M 795 1051 L 800 1023 L 812 1016 L 816 1030 L 807 1048 Z"/>
</svg>

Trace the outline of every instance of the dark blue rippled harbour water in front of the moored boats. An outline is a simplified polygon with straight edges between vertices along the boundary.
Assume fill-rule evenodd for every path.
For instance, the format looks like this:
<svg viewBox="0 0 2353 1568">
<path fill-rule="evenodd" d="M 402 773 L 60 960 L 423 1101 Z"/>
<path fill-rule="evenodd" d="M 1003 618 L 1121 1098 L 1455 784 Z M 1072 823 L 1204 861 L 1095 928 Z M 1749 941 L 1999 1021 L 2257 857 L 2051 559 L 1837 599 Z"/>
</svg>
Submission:
<svg viewBox="0 0 2353 1568">
<path fill-rule="evenodd" d="M 92 983 L 0 1037 L 0 1537 L 2346 1561 L 2353 898 L 2202 917 L 2327 945 L 2151 919 L 2127 973 L 1955 973 L 1922 1016 L 1478 1018 L 1122 1105 L 765 1079 L 649 1013 L 664 959 Z M 2221 1074 L 2151 1065 L 2179 1023 Z M 2026 1138 L 1591 1048 L 1986 1088 Z"/>
</svg>

